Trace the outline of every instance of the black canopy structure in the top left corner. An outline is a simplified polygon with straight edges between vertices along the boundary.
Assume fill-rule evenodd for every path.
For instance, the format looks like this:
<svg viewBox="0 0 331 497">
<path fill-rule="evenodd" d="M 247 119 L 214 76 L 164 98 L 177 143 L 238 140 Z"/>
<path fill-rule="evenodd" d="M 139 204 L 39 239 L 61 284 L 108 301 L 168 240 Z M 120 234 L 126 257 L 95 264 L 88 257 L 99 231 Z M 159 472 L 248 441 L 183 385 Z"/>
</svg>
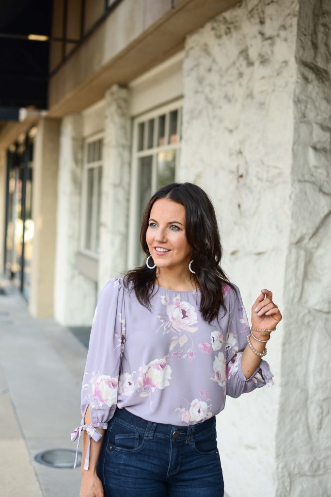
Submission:
<svg viewBox="0 0 331 497">
<path fill-rule="evenodd" d="M 0 121 L 18 119 L 20 107 L 46 109 L 52 0 L 0 0 Z"/>
</svg>

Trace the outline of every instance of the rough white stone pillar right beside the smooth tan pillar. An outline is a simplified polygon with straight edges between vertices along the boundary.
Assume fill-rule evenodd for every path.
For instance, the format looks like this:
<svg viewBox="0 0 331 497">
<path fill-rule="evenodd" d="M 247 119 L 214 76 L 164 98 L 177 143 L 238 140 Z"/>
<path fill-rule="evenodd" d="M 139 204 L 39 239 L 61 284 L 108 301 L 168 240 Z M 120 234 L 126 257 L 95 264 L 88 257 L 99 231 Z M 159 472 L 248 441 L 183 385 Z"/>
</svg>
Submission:
<svg viewBox="0 0 331 497">
<path fill-rule="evenodd" d="M 90 325 L 96 302 L 95 282 L 76 267 L 79 250 L 82 181 L 82 122 L 66 116 L 61 125 L 58 175 L 55 319 L 66 326 Z"/>
</svg>

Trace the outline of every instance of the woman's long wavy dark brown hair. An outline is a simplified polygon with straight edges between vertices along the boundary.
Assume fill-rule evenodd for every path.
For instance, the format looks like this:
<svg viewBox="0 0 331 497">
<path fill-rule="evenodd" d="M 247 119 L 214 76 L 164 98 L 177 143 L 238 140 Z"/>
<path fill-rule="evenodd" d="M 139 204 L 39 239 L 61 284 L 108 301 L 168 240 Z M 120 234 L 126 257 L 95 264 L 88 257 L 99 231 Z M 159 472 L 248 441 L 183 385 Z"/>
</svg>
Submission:
<svg viewBox="0 0 331 497">
<path fill-rule="evenodd" d="M 147 203 L 142 216 L 140 243 L 146 255 L 141 266 L 127 272 L 124 276 L 124 286 L 134 290 L 138 302 L 150 310 L 150 298 L 157 291 L 154 281 L 157 281 L 156 267 L 149 269 L 146 259 L 149 253 L 146 242 L 146 232 L 150 211 L 154 202 L 160 198 L 182 204 L 185 208 L 185 232 L 192 248 L 193 269 L 196 274 L 191 278 L 200 290 L 200 312 L 202 318 L 211 323 L 217 319 L 220 307 L 226 313 L 223 298 L 223 285 L 229 285 L 235 294 L 236 288 L 229 281 L 220 266 L 222 246 L 217 226 L 214 207 L 210 198 L 194 183 L 170 183 L 157 190 Z"/>
</svg>

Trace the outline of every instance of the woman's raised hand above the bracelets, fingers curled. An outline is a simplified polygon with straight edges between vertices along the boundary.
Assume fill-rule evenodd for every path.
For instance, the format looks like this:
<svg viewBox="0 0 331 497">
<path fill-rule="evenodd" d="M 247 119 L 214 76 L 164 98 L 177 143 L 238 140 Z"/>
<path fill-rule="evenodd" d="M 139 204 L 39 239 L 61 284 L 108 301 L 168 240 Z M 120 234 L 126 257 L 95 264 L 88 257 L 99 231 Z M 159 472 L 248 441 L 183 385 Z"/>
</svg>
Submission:
<svg viewBox="0 0 331 497">
<path fill-rule="evenodd" d="M 272 330 L 281 319 L 278 307 L 272 302 L 272 292 L 261 290 L 261 294 L 252 306 L 252 326 Z"/>
</svg>

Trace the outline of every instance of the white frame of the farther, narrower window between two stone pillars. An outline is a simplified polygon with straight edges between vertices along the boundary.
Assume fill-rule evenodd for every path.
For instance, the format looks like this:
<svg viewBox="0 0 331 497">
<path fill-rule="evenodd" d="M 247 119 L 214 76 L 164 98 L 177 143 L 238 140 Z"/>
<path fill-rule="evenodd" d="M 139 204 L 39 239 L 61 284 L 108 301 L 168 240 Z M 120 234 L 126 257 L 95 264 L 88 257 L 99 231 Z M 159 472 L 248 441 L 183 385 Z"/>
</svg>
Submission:
<svg viewBox="0 0 331 497">
<path fill-rule="evenodd" d="M 83 181 L 82 181 L 82 196 L 81 196 L 81 221 L 80 221 L 80 241 L 79 241 L 79 251 L 89 257 L 92 257 L 96 260 L 99 260 L 100 254 L 94 252 L 85 247 L 86 241 L 86 231 L 87 231 L 87 223 L 86 223 L 86 215 L 87 215 L 87 178 L 89 169 L 95 169 L 101 166 L 101 171 L 103 172 L 104 167 L 104 132 L 93 133 L 88 137 L 84 138 L 83 143 Z M 101 161 L 96 161 L 93 163 L 88 162 L 88 146 L 90 143 L 96 142 L 98 140 L 102 140 L 102 159 Z M 101 180 L 102 183 L 102 180 Z M 93 207 L 92 207 L 92 221 L 91 221 L 91 239 L 93 237 L 96 239 L 97 233 L 97 181 L 93 181 Z M 102 187 L 101 187 L 101 196 L 102 196 Z M 101 198 L 102 200 L 102 198 Z"/>
</svg>

